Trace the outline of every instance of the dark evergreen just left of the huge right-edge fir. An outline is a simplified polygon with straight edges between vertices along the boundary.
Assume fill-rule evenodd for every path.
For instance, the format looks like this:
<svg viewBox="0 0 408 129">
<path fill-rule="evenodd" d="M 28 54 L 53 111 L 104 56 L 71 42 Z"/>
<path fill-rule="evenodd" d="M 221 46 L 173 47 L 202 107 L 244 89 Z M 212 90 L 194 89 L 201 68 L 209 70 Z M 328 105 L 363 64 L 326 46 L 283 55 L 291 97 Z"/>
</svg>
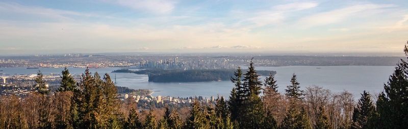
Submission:
<svg viewBox="0 0 408 129">
<path fill-rule="evenodd" d="M 366 91 L 363 91 L 361 95 L 357 107 L 354 108 L 351 128 L 368 128 L 367 121 L 372 117 L 375 111 L 371 95 Z"/>
</svg>

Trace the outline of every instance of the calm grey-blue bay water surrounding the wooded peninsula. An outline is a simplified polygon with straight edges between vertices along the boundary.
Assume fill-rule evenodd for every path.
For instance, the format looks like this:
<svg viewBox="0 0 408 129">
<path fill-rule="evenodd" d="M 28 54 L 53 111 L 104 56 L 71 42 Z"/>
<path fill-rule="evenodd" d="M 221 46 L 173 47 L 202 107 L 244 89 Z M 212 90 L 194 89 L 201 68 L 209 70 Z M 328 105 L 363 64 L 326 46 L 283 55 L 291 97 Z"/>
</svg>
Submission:
<svg viewBox="0 0 408 129">
<path fill-rule="evenodd" d="M 91 68 L 91 72 L 99 74 L 110 73 L 120 68 Z M 256 67 L 257 70 L 275 70 L 275 79 L 278 91 L 284 92 L 292 74 L 295 73 L 302 89 L 306 86 L 321 86 L 332 92 L 347 90 L 354 96 L 360 96 L 363 90 L 373 94 L 382 91 L 384 83 L 388 81 L 394 66 L 283 66 L 283 67 Z M 0 68 L 0 73 L 5 74 L 35 74 L 41 70 L 44 74 L 60 74 L 63 68 L 25 69 L 25 67 Z M 81 74 L 84 68 L 69 68 L 72 74 Z M 114 78 L 115 73 L 110 73 Z M 152 95 L 162 96 L 229 96 L 234 86 L 230 81 L 196 82 L 196 83 L 153 83 L 148 82 L 147 75 L 134 73 L 116 73 L 117 85 L 133 89 L 151 89 Z M 265 78 L 261 76 L 262 80 Z"/>
</svg>

